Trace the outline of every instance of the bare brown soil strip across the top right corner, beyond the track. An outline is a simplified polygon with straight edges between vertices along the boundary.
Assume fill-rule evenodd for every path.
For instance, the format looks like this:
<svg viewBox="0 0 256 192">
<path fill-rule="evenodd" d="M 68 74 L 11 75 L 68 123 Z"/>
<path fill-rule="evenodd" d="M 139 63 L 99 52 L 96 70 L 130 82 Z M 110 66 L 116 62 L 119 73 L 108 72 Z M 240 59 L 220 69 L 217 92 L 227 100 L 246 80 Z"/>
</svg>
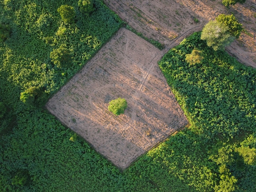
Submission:
<svg viewBox="0 0 256 192">
<path fill-rule="evenodd" d="M 231 5 L 222 0 L 104 0 L 132 28 L 166 45 L 165 52 L 221 13 L 234 13 L 251 36 L 241 37 L 227 47 L 241 63 L 256 67 L 256 2 Z M 198 19 L 196 23 L 194 19 Z"/>
</svg>

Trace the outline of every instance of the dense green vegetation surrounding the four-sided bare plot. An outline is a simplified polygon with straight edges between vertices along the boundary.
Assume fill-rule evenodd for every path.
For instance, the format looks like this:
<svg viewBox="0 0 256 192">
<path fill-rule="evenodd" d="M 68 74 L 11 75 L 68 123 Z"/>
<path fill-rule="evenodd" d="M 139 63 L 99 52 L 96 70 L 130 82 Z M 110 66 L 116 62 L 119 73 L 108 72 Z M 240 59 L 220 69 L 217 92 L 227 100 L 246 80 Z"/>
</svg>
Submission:
<svg viewBox="0 0 256 192">
<path fill-rule="evenodd" d="M 123 172 L 38 107 L 123 25 L 101 0 L 78 2 L 65 21 L 61 1 L 0 2 L 0 191 L 254 192 L 256 71 L 200 33 L 159 61 L 190 126 Z"/>
</svg>

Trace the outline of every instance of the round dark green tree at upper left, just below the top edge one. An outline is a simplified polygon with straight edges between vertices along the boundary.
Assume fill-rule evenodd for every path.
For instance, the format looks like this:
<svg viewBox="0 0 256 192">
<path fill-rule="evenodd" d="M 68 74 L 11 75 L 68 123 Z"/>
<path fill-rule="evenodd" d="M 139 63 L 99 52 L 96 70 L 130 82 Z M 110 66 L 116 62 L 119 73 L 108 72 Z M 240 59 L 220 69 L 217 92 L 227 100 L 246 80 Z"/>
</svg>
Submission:
<svg viewBox="0 0 256 192">
<path fill-rule="evenodd" d="M 60 13 L 61 19 L 65 23 L 74 22 L 74 18 L 75 18 L 75 9 L 74 9 L 74 7 L 65 4 L 65 5 L 61 5 L 61 7 L 59 7 L 57 9 L 57 11 L 58 11 L 58 13 Z"/>
</svg>

